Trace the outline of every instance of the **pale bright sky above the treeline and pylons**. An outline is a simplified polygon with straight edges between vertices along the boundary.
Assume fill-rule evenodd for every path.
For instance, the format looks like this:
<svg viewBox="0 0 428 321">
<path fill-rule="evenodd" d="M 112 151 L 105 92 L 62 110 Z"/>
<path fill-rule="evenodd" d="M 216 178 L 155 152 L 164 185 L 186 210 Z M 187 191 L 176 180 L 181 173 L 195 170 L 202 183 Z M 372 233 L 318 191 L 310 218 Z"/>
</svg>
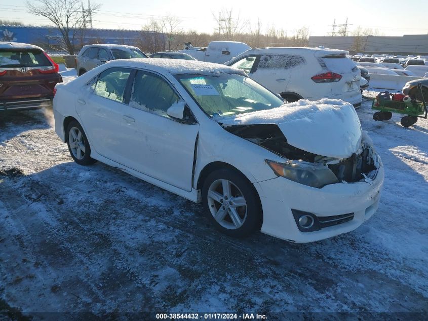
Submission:
<svg viewBox="0 0 428 321">
<path fill-rule="evenodd" d="M 87 1 L 84 0 L 85 5 Z M 334 19 L 336 24 L 343 24 L 348 18 L 348 28 L 351 31 L 361 26 L 378 29 L 384 35 L 428 33 L 428 9 L 422 0 L 343 1 L 342 5 L 319 0 L 103 0 L 100 3 L 100 12 L 93 17 L 94 27 L 98 28 L 141 29 L 141 26 L 152 18 L 175 15 L 181 20 L 183 29 L 211 33 L 216 26 L 214 15 L 218 16 L 224 8 L 232 9 L 235 18 L 239 15 L 241 21 L 249 25 L 260 19 L 263 31 L 267 27 L 275 26 L 292 34 L 293 29 L 306 26 L 311 35 L 327 35 L 331 32 Z M 49 24 L 46 19 L 26 12 L 25 0 L 0 0 L 0 19 L 19 20 L 36 25 Z"/>
</svg>

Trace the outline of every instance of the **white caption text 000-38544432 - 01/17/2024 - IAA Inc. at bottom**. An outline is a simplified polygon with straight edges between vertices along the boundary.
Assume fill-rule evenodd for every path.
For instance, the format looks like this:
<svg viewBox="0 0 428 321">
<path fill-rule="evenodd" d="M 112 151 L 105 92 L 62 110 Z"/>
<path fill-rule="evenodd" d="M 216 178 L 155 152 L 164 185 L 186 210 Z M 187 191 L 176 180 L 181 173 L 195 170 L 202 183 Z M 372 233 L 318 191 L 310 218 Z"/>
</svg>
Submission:
<svg viewBox="0 0 428 321">
<path fill-rule="evenodd" d="M 157 319 L 201 319 L 201 320 L 264 320 L 267 319 L 265 314 L 258 313 L 156 313 Z"/>
</svg>

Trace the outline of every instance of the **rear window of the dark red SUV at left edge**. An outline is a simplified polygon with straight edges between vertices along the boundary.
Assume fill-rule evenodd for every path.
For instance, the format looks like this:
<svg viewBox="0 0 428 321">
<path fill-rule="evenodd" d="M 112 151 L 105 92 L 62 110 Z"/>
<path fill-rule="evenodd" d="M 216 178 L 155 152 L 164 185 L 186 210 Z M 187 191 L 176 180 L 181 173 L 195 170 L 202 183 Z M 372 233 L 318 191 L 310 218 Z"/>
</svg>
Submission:
<svg viewBox="0 0 428 321">
<path fill-rule="evenodd" d="M 52 66 L 41 50 L 0 50 L 0 67 Z"/>
</svg>

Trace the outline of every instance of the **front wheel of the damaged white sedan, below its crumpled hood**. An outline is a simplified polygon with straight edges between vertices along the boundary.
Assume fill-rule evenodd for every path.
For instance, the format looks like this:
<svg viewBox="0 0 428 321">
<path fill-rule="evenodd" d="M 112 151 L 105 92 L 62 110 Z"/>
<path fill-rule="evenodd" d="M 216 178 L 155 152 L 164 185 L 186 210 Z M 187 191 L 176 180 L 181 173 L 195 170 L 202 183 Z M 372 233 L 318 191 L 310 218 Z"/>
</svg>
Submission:
<svg viewBox="0 0 428 321">
<path fill-rule="evenodd" d="M 260 228 L 262 210 L 257 191 L 235 170 L 210 173 L 202 188 L 202 202 L 208 219 L 228 236 L 245 237 Z"/>
</svg>

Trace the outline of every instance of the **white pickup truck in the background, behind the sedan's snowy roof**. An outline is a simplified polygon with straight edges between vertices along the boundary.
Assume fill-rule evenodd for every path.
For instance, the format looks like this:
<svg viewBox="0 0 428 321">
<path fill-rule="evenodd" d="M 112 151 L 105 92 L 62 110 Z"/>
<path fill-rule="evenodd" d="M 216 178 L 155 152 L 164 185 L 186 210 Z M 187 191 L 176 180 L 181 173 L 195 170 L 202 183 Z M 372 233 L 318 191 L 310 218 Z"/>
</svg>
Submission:
<svg viewBox="0 0 428 321">
<path fill-rule="evenodd" d="M 236 41 L 212 41 L 208 44 L 208 47 L 198 48 L 187 45 L 186 49 L 179 51 L 200 61 L 224 63 L 249 49 L 251 49 L 251 47 L 246 43 Z"/>
</svg>

